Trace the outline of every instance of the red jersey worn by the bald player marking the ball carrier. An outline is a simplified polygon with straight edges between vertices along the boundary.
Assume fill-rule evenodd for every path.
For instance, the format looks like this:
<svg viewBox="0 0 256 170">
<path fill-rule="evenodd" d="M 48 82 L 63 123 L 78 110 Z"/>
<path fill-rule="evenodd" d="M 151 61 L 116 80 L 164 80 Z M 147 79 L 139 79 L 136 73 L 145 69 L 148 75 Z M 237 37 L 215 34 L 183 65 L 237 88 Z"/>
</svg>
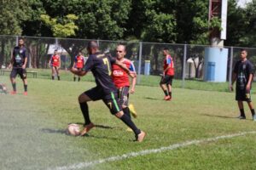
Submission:
<svg viewBox="0 0 256 170">
<path fill-rule="evenodd" d="M 120 62 L 126 65 L 126 67 L 131 71 L 131 73 L 136 73 L 135 67 L 131 60 L 122 59 Z M 122 88 L 125 86 L 130 87 L 129 75 L 121 68 L 119 65 L 112 65 L 112 77 L 115 87 Z"/>
</svg>

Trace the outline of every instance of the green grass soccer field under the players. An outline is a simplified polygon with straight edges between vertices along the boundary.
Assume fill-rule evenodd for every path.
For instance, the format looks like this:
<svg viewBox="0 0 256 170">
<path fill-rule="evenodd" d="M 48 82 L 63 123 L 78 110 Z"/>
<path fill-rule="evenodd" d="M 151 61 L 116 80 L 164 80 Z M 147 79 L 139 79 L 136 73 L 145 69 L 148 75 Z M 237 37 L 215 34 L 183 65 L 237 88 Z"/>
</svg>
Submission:
<svg viewBox="0 0 256 170">
<path fill-rule="evenodd" d="M 1 82 L 10 89 L 9 77 Z M 102 101 L 89 103 L 87 136 L 67 135 L 68 123 L 84 123 L 79 94 L 94 86 L 29 78 L 24 96 L 17 78 L 17 95 L 0 94 L 0 169 L 255 169 L 256 122 L 247 105 L 247 120 L 235 118 L 235 94 L 173 88 L 164 101 L 159 87 L 137 86 L 130 103 L 143 143 Z"/>
</svg>

